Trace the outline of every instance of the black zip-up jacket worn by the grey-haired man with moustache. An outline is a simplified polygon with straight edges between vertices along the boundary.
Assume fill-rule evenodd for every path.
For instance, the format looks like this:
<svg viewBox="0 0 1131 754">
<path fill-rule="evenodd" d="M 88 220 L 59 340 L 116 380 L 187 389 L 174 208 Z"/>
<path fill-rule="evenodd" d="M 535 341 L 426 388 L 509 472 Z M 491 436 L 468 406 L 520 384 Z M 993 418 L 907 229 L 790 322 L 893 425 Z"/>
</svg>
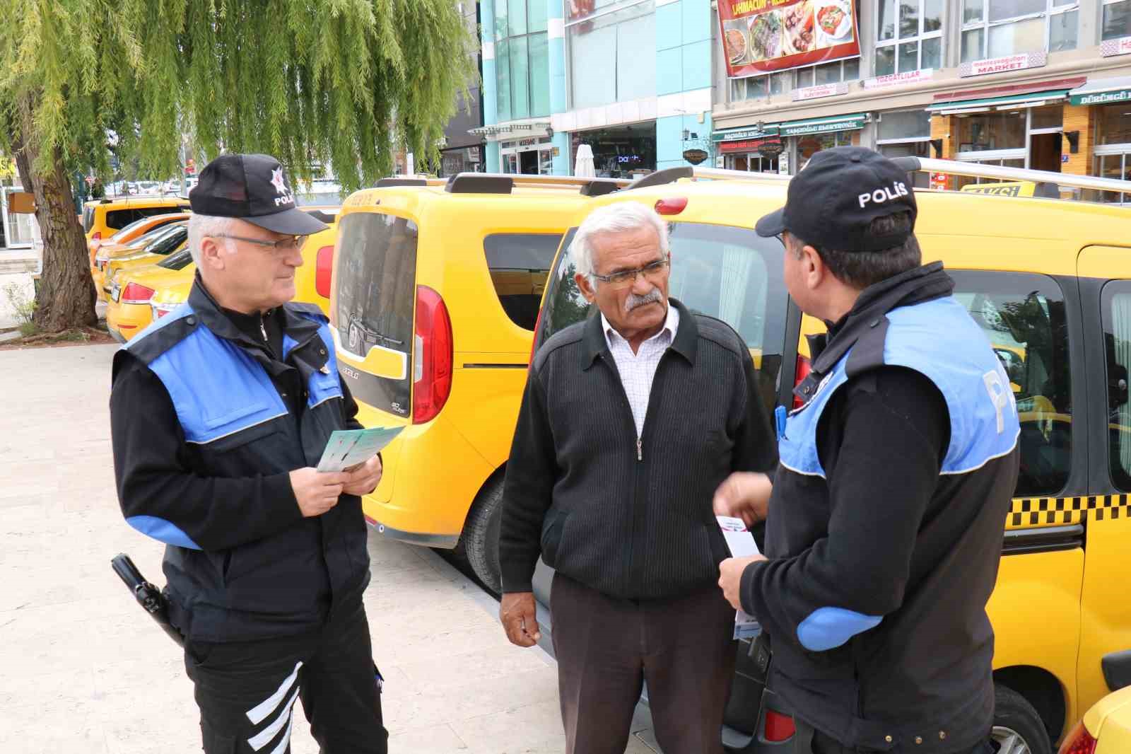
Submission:
<svg viewBox="0 0 1131 754">
<path fill-rule="evenodd" d="M 589 317 L 551 337 L 527 378 L 503 488 L 506 592 L 530 591 L 538 555 L 605 594 L 710 586 L 726 543 L 711 499 L 734 470 L 776 455 L 750 351 L 725 323 L 672 300 L 680 325 L 651 385 L 644 436 Z"/>
</svg>

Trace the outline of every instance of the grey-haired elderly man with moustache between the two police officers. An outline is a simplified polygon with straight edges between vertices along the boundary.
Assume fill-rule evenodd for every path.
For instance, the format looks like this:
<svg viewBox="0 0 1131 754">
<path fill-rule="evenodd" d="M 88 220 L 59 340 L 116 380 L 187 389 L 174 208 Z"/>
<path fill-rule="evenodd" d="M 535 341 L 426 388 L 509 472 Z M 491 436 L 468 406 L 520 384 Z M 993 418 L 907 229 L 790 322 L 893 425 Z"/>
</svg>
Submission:
<svg viewBox="0 0 1131 754">
<path fill-rule="evenodd" d="M 664 751 L 722 752 L 734 610 L 714 586 L 726 545 L 711 496 L 776 460 L 750 351 L 668 300 L 667 226 L 650 208 L 594 211 L 570 254 L 599 315 L 530 368 L 503 490 L 502 623 L 519 646 L 538 640 L 541 555 L 556 569 L 568 751 L 622 753 L 647 682 Z"/>
</svg>

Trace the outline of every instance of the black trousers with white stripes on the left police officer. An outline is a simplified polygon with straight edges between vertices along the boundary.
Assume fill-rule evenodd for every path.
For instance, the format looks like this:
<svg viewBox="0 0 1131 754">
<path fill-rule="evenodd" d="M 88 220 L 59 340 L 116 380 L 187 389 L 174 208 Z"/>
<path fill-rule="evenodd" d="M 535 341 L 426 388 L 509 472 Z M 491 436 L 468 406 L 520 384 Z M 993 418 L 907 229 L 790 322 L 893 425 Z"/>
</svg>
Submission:
<svg viewBox="0 0 1131 754">
<path fill-rule="evenodd" d="M 386 754 L 381 677 L 361 601 L 320 629 L 247 642 L 185 642 L 205 754 L 288 754 L 302 701 L 322 754 Z"/>
</svg>

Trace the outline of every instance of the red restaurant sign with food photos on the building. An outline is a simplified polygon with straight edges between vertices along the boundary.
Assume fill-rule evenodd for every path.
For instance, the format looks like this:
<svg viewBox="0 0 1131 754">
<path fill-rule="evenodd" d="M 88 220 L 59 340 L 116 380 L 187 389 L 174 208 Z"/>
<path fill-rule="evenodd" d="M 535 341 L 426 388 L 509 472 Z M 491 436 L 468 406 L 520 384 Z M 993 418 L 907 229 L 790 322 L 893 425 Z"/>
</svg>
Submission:
<svg viewBox="0 0 1131 754">
<path fill-rule="evenodd" d="M 718 0 L 731 78 L 860 54 L 856 0 Z"/>
</svg>

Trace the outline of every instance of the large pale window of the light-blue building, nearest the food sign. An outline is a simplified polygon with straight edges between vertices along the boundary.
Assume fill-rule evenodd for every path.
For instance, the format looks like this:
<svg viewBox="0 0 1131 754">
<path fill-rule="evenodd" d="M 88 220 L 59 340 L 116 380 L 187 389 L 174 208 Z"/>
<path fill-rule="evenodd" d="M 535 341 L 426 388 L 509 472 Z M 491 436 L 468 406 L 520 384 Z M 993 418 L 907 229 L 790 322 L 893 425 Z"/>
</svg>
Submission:
<svg viewBox="0 0 1131 754">
<path fill-rule="evenodd" d="M 655 0 L 598 6 L 588 16 L 566 24 L 570 106 L 595 108 L 655 96 Z"/>
</svg>

